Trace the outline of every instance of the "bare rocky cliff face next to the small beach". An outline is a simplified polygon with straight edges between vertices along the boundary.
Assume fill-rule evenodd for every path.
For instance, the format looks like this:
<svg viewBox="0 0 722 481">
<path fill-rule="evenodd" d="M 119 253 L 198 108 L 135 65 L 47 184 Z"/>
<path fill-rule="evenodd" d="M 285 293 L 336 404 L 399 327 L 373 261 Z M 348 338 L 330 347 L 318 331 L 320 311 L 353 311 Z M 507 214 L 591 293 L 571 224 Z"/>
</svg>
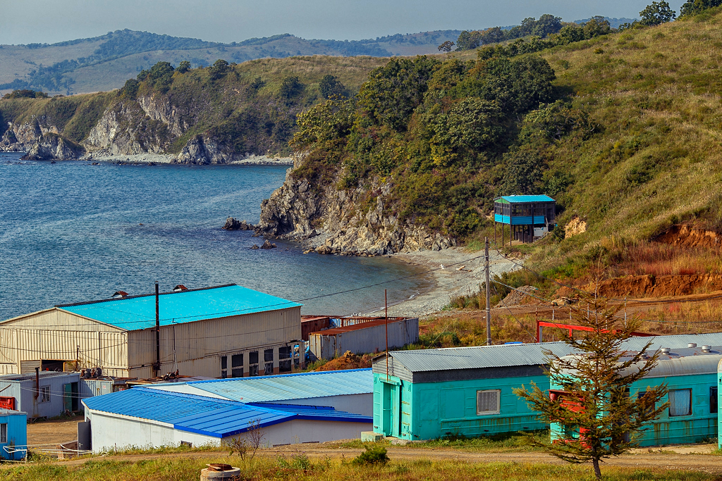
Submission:
<svg viewBox="0 0 722 481">
<path fill-rule="evenodd" d="M 292 169 L 284 185 L 261 203 L 262 234 L 303 241 L 320 254 L 386 255 L 414 250 L 441 250 L 455 246 L 456 240 L 402 223 L 396 213 L 384 209 L 391 185 L 375 182 L 375 203 L 360 211 L 367 191 L 338 190 L 332 184 L 314 189 L 307 180 L 295 179 Z"/>
</svg>

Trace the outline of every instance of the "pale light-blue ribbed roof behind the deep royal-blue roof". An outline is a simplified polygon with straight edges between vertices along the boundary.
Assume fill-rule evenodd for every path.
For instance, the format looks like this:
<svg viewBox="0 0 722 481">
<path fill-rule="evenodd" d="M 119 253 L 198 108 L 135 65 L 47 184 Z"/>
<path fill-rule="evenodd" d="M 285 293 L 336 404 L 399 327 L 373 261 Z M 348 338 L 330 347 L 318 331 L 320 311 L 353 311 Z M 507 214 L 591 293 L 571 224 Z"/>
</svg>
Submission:
<svg viewBox="0 0 722 481">
<path fill-rule="evenodd" d="M 282 374 L 281 376 L 190 381 L 186 384 L 235 401 L 291 401 L 309 397 L 372 393 L 373 373 L 370 368 L 349 369 L 347 371 Z M 172 387 L 168 389 L 172 389 Z"/>
</svg>

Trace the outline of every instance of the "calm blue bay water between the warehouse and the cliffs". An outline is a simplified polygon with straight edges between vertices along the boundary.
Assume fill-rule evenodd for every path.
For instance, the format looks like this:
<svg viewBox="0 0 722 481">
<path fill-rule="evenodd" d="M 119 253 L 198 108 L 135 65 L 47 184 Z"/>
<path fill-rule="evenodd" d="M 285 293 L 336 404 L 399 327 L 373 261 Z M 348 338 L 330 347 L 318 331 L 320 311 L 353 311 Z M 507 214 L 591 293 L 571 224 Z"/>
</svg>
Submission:
<svg viewBox="0 0 722 481">
<path fill-rule="evenodd" d="M 409 297 L 414 274 L 388 258 L 303 255 L 298 244 L 224 231 L 227 216 L 256 223 L 286 167 L 129 166 L 22 162 L 0 153 L 0 319 L 55 304 L 238 283 L 300 301 L 308 314 L 352 314 Z M 316 298 L 316 299 L 310 299 Z"/>
</svg>

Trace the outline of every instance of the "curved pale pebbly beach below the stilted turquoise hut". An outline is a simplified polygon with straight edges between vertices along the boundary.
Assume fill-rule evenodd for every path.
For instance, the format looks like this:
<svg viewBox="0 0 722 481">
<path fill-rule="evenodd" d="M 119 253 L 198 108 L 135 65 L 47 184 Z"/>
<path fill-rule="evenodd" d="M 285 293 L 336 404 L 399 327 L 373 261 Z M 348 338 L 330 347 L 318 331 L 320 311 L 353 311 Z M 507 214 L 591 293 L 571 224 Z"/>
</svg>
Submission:
<svg viewBox="0 0 722 481">
<path fill-rule="evenodd" d="M 429 270 L 432 287 L 411 299 L 388 307 L 389 316 L 424 317 L 440 312 L 449 301 L 462 294 L 476 294 L 484 286 L 484 251 L 470 252 L 464 247 L 440 251 L 400 252 L 393 258 Z M 495 251 L 489 253 L 490 275 L 518 269 Z M 383 315 L 383 307 L 369 315 Z"/>
</svg>

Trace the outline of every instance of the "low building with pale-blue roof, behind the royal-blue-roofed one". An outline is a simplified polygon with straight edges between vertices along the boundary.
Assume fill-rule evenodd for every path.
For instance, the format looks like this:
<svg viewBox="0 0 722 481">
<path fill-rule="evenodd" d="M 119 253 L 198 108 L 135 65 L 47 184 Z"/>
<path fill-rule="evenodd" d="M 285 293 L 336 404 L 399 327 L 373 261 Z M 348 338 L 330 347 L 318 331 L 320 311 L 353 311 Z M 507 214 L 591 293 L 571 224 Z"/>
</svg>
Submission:
<svg viewBox="0 0 722 481">
<path fill-rule="evenodd" d="M 265 403 L 271 407 L 284 404 L 326 406 L 373 416 L 373 372 L 370 368 L 151 384 L 147 387 L 230 401 Z"/>
</svg>

